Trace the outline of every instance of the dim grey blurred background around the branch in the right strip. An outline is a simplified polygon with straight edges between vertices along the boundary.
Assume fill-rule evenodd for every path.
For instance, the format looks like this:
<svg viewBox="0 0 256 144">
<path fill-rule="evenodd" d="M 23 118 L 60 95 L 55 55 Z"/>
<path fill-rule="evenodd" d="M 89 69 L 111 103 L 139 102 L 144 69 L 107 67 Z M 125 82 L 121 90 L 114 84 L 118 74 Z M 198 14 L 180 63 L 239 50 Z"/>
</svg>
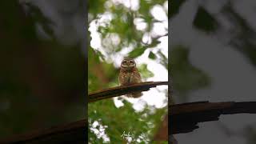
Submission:
<svg viewBox="0 0 256 144">
<path fill-rule="evenodd" d="M 170 74 L 174 101 L 256 101 L 256 2 L 182 0 L 170 2 Z M 256 143 L 254 114 L 203 122 L 179 144 Z"/>
</svg>

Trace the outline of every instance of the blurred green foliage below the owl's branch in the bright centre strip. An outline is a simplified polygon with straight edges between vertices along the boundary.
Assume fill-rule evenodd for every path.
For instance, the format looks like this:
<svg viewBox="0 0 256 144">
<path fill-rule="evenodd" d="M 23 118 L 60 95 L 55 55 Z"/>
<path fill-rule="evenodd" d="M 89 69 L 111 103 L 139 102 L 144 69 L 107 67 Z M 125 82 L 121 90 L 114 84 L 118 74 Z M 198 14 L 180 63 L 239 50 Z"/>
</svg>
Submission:
<svg viewBox="0 0 256 144">
<path fill-rule="evenodd" d="M 140 138 L 142 142 L 149 141 L 154 137 L 154 132 L 162 121 L 162 115 L 166 114 L 166 109 L 154 110 L 154 107 L 148 106 L 142 112 L 134 112 L 130 102 L 124 101 L 124 106 L 117 108 L 112 99 L 98 101 L 89 104 L 89 127 L 96 120 L 106 127 L 106 134 L 110 137 L 110 142 L 122 143 L 125 138 L 122 134 L 130 132 L 134 138 Z M 104 112 L 102 113 L 102 110 Z M 153 129 L 152 129 L 153 128 Z M 96 138 L 95 134 L 89 131 L 90 142 L 102 142 L 102 138 Z"/>
</svg>

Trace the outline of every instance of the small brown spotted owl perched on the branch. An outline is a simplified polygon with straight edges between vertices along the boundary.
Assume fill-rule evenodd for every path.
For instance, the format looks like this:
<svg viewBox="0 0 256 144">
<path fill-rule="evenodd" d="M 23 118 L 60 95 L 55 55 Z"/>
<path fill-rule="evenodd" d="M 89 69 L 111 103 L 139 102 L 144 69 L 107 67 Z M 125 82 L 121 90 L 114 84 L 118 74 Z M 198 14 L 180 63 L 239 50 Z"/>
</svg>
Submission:
<svg viewBox="0 0 256 144">
<path fill-rule="evenodd" d="M 134 59 L 124 58 L 122 60 L 118 80 L 119 80 L 120 86 L 127 86 L 134 83 L 142 82 L 141 75 L 138 73 Z M 141 92 L 126 94 L 126 97 L 130 97 L 130 98 L 139 98 L 141 96 L 142 96 Z"/>
</svg>

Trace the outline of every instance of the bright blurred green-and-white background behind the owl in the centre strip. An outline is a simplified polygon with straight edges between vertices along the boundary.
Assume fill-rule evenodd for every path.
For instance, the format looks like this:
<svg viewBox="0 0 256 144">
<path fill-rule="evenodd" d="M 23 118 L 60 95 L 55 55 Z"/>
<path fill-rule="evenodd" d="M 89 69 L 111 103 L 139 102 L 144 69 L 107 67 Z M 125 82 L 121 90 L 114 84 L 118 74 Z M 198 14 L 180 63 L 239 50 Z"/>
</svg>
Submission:
<svg viewBox="0 0 256 144">
<path fill-rule="evenodd" d="M 134 58 L 142 81 L 168 81 L 168 1 L 88 2 L 88 92 L 118 86 L 122 58 Z M 90 143 L 152 143 L 167 114 L 167 86 L 142 98 L 88 104 Z"/>
</svg>

